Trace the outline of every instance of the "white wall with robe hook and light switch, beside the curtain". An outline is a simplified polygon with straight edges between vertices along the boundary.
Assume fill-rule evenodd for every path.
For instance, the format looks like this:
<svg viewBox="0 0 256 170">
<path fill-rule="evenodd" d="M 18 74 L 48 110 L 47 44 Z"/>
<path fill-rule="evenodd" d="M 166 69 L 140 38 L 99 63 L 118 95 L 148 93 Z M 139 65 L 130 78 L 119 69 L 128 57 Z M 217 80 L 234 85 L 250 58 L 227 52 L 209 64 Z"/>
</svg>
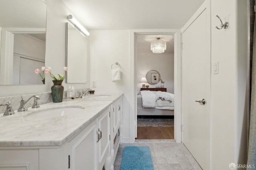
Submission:
<svg viewBox="0 0 256 170">
<path fill-rule="evenodd" d="M 247 6 L 246 6 L 247 5 Z M 247 158 L 247 0 L 212 0 L 212 63 L 219 62 L 219 74 L 212 74 L 211 169 L 228 170 L 230 163 L 246 164 Z M 217 30 L 220 21 L 228 29 Z"/>
</svg>

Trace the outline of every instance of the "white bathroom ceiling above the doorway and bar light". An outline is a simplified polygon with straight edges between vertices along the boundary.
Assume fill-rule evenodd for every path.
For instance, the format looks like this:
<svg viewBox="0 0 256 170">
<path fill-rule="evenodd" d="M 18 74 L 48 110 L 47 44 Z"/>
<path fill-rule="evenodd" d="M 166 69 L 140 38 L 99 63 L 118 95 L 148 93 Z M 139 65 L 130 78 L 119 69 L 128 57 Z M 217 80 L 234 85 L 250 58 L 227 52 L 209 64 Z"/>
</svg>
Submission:
<svg viewBox="0 0 256 170">
<path fill-rule="evenodd" d="M 89 30 L 180 29 L 204 0 L 62 0 Z"/>
</svg>

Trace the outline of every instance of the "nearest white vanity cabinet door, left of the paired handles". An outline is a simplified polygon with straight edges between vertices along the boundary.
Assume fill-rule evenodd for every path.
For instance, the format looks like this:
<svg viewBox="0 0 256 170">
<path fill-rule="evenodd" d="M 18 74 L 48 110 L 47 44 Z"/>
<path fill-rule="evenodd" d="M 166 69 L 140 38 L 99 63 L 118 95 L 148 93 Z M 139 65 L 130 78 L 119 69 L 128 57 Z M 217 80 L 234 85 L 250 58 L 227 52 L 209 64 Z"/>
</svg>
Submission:
<svg viewBox="0 0 256 170">
<path fill-rule="evenodd" d="M 94 120 L 69 142 L 70 169 L 97 170 L 97 121 Z"/>
</svg>

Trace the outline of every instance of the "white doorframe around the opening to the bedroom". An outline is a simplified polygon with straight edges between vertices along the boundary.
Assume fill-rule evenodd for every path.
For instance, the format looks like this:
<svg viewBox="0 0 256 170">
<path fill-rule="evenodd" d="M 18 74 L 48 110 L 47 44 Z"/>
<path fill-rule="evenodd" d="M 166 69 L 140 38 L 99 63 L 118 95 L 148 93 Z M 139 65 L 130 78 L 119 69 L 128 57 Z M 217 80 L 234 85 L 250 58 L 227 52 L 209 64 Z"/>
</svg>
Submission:
<svg viewBox="0 0 256 170">
<path fill-rule="evenodd" d="M 130 135 L 129 138 L 123 138 L 124 142 L 134 142 L 135 132 L 137 129 L 137 105 L 136 105 L 136 50 L 135 35 L 174 35 L 174 140 L 181 143 L 181 32 L 180 30 L 130 30 L 130 75 L 129 75 L 129 119 L 130 119 Z"/>
</svg>

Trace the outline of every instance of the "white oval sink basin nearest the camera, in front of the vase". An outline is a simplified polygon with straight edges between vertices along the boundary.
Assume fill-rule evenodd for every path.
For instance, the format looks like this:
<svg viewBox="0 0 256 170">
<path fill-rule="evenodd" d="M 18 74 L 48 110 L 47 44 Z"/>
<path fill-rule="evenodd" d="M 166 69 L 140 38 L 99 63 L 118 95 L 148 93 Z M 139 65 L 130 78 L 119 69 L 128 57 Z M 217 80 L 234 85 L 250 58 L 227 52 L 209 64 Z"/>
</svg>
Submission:
<svg viewBox="0 0 256 170">
<path fill-rule="evenodd" d="M 23 117 L 27 119 L 48 119 L 53 117 L 63 117 L 66 115 L 79 113 L 84 109 L 85 108 L 81 106 L 52 107 L 38 111 L 32 111 L 24 115 Z"/>
</svg>

